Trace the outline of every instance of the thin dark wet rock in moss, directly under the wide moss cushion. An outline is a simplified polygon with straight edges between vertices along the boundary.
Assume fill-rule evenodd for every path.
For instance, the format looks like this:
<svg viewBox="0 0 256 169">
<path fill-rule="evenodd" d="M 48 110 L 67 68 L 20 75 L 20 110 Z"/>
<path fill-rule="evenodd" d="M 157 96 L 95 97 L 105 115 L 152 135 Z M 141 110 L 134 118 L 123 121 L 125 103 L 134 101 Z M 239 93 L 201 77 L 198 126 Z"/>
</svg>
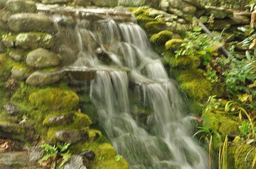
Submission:
<svg viewBox="0 0 256 169">
<path fill-rule="evenodd" d="M 47 125 L 67 125 L 71 124 L 73 122 L 74 114 L 68 114 L 68 115 L 60 115 L 60 116 L 53 116 L 53 117 L 47 117 L 43 124 Z"/>
</svg>

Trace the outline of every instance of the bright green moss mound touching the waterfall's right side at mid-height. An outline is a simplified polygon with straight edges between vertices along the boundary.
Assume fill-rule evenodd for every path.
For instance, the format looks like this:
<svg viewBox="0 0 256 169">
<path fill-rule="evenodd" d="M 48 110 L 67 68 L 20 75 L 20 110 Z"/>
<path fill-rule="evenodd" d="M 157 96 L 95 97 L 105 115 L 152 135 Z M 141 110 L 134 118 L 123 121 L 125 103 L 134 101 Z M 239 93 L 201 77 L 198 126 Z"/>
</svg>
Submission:
<svg viewBox="0 0 256 169">
<path fill-rule="evenodd" d="M 211 83 L 206 79 L 195 79 L 194 81 L 182 82 L 180 88 L 186 95 L 194 100 L 207 99 L 211 92 Z"/>
</svg>

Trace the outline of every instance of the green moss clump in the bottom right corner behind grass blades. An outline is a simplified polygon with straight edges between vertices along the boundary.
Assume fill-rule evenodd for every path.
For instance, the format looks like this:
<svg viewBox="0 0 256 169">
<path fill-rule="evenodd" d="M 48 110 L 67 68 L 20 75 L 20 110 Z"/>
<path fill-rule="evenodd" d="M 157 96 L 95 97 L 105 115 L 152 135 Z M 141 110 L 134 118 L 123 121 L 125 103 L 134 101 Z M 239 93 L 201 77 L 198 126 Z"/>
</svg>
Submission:
<svg viewBox="0 0 256 169">
<path fill-rule="evenodd" d="M 239 145 L 234 154 L 234 167 L 236 169 L 251 168 L 256 148 L 251 145 Z"/>
</svg>

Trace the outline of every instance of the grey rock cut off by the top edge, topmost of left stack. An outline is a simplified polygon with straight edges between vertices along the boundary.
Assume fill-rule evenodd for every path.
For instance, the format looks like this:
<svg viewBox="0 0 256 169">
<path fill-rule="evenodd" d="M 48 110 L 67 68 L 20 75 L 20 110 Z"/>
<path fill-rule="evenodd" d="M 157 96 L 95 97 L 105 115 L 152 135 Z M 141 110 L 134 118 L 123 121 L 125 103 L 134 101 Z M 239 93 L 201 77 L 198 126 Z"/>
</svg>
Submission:
<svg viewBox="0 0 256 169">
<path fill-rule="evenodd" d="M 37 12 L 35 2 L 30 0 L 9 0 L 6 8 L 12 13 Z"/>
</svg>

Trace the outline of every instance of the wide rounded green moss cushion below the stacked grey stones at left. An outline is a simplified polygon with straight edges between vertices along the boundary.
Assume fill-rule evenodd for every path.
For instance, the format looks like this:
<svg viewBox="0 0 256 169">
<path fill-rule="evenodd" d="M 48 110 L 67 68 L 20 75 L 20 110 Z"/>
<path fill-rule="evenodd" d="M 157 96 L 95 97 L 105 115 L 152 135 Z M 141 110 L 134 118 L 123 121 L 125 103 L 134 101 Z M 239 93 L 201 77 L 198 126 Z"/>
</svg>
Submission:
<svg viewBox="0 0 256 169">
<path fill-rule="evenodd" d="M 75 108 L 79 98 L 71 90 L 60 88 L 46 88 L 38 90 L 29 96 L 31 104 L 37 108 L 58 109 L 60 107 L 67 110 Z"/>
</svg>

